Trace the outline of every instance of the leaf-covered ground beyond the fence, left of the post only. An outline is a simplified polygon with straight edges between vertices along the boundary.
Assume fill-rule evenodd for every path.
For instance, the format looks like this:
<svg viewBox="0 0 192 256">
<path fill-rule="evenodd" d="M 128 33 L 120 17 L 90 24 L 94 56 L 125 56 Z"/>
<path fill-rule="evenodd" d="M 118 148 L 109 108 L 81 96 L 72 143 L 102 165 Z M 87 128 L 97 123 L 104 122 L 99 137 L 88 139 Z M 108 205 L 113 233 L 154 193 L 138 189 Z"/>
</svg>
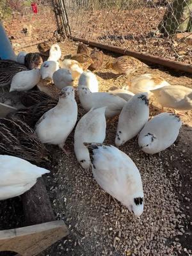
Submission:
<svg viewBox="0 0 192 256">
<path fill-rule="evenodd" d="M 15 8 L 19 3 L 15 3 Z M 31 7 L 20 7 L 22 12 L 17 12 L 5 19 L 4 29 L 9 36 L 13 47 L 18 49 L 23 45 L 52 38 L 57 29 L 56 17 L 52 6 L 38 5 L 38 13 L 34 14 Z"/>
</svg>

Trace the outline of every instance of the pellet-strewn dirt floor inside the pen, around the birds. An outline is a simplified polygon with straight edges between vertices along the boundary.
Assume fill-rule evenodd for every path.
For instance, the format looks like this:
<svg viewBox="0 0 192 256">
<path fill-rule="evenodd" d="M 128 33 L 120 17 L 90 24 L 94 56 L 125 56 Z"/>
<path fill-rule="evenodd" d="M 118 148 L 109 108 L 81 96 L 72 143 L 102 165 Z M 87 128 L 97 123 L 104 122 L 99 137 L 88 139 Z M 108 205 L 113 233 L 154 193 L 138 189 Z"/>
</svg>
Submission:
<svg viewBox="0 0 192 256">
<path fill-rule="evenodd" d="M 69 40 L 60 46 L 62 56 L 75 53 L 77 48 Z M 22 49 L 36 50 L 36 47 Z M 116 56 L 104 52 L 104 63 Z M 145 73 L 159 74 L 171 84 L 192 88 L 188 74 L 157 66 L 141 68 L 119 79 L 104 68 L 95 72 L 101 92 L 112 86 L 122 87 L 132 77 Z M 81 106 L 79 113 L 80 116 L 85 113 Z M 158 113 L 159 106 L 152 99 L 150 116 Z M 143 180 L 145 206 L 140 218 L 132 216 L 120 203 L 109 202 L 109 195 L 100 189 L 92 173 L 80 168 L 73 150 L 74 131 L 66 142 L 73 151 L 70 157 L 58 147 L 49 146 L 54 161 L 51 175 L 45 178 L 47 191 L 57 219 L 65 221 L 70 234 L 39 256 L 192 255 L 191 117 L 192 111 L 181 116 L 179 138 L 160 155 L 143 154 L 136 138 L 120 147 L 138 166 Z M 117 122 L 115 118 L 107 125 L 106 143 L 114 145 Z M 19 198 L 0 202 L 0 209 L 1 229 L 19 227 L 23 221 Z"/>
</svg>

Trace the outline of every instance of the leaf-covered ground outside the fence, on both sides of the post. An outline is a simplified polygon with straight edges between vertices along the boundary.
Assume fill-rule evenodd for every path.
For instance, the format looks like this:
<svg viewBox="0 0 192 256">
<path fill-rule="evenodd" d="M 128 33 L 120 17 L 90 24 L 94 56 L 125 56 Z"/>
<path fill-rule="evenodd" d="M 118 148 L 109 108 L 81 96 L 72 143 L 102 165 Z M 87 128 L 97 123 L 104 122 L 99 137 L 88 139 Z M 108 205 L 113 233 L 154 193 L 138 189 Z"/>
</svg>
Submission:
<svg viewBox="0 0 192 256">
<path fill-rule="evenodd" d="M 118 1 L 113 2 L 115 4 Z M 183 32 L 182 39 L 175 35 L 164 37 L 158 31 L 158 26 L 166 6 L 141 2 L 146 3 L 127 1 L 117 8 L 101 1 L 99 6 L 93 4 L 93 9 L 86 9 L 84 6 L 75 6 L 73 1 L 67 1 L 65 4 L 71 34 L 102 44 L 124 47 L 129 51 L 191 64 L 192 48 L 188 33 Z M 24 8 L 23 11 L 23 14 L 16 12 L 12 18 L 4 20 L 6 33 L 17 49 L 54 36 L 58 24 L 52 6 L 38 6 L 37 14 L 31 12 L 31 8 Z"/>
</svg>

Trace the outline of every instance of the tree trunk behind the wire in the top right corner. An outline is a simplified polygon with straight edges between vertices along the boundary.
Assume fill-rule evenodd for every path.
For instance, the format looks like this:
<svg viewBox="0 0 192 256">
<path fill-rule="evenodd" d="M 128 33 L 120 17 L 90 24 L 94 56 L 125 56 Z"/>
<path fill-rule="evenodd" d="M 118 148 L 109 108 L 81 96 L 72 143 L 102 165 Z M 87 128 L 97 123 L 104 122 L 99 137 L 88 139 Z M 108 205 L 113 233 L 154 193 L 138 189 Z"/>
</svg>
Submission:
<svg viewBox="0 0 192 256">
<path fill-rule="evenodd" d="M 175 0 L 173 3 L 169 3 L 163 21 L 158 26 L 159 31 L 164 36 L 192 31 L 191 12 L 192 0 Z"/>
</svg>

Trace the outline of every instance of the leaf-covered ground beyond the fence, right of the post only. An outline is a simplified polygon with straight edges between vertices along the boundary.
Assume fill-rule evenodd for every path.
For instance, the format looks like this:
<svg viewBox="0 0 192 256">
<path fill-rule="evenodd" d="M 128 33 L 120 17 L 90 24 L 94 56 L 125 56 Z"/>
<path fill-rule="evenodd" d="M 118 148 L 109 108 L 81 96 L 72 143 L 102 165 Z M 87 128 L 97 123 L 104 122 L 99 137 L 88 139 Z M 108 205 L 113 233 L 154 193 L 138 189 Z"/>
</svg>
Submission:
<svg viewBox="0 0 192 256">
<path fill-rule="evenodd" d="M 176 36 L 164 37 L 158 31 L 166 7 L 139 2 L 127 1 L 126 10 L 105 6 L 105 2 L 105 7 L 92 12 L 67 8 L 72 36 L 191 64 L 188 36 L 183 33 L 183 40 L 179 40 Z"/>
</svg>

